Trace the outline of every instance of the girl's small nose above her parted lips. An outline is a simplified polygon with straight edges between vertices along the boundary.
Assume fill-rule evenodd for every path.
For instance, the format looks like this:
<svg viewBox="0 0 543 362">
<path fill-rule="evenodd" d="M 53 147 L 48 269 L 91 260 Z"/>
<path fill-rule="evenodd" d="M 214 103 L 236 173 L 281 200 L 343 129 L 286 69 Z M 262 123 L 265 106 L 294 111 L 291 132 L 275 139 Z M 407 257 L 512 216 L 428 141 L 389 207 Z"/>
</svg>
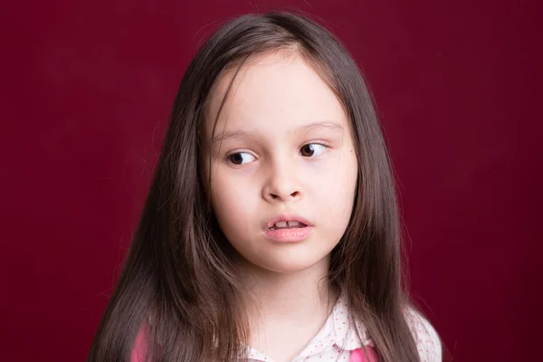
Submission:
<svg viewBox="0 0 543 362">
<path fill-rule="evenodd" d="M 270 202 L 296 202 L 303 196 L 300 179 L 295 167 L 285 164 L 271 167 L 270 175 L 262 188 L 262 197 Z"/>
</svg>

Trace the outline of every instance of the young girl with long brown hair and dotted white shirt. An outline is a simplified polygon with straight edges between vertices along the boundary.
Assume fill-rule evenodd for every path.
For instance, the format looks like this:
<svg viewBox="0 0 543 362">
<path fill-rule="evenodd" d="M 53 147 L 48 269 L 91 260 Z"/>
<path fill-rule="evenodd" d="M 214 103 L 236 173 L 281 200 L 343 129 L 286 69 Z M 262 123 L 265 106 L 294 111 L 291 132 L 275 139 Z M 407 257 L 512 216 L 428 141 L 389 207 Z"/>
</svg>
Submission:
<svg viewBox="0 0 543 362">
<path fill-rule="evenodd" d="M 441 360 L 400 254 L 355 62 L 304 16 L 244 15 L 181 81 L 89 361 Z"/>
</svg>

